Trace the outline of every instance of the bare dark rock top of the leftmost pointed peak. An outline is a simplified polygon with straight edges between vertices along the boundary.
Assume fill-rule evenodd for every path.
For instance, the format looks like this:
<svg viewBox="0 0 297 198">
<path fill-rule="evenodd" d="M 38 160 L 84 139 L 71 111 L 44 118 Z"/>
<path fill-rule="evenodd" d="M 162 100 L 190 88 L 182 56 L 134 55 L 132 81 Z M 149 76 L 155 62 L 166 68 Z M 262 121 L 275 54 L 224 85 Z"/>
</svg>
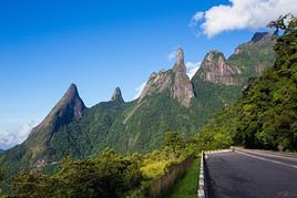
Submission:
<svg viewBox="0 0 297 198">
<path fill-rule="evenodd" d="M 80 119 L 85 108 L 76 85 L 71 84 L 63 97 L 57 103 L 47 117 L 32 129 L 31 134 L 44 129 L 54 132 L 72 121 Z"/>
</svg>

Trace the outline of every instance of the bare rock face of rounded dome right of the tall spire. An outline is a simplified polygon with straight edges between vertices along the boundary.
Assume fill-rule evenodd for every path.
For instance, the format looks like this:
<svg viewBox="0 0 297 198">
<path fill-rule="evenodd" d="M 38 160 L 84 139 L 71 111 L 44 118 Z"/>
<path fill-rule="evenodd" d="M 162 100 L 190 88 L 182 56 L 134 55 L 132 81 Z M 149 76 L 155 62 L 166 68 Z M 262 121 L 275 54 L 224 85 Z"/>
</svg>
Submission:
<svg viewBox="0 0 297 198">
<path fill-rule="evenodd" d="M 229 65 L 222 52 L 211 51 L 204 58 L 197 74 L 209 83 L 238 85 L 237 75 L 240 74 L 240 71 Z"/>
</svg>

